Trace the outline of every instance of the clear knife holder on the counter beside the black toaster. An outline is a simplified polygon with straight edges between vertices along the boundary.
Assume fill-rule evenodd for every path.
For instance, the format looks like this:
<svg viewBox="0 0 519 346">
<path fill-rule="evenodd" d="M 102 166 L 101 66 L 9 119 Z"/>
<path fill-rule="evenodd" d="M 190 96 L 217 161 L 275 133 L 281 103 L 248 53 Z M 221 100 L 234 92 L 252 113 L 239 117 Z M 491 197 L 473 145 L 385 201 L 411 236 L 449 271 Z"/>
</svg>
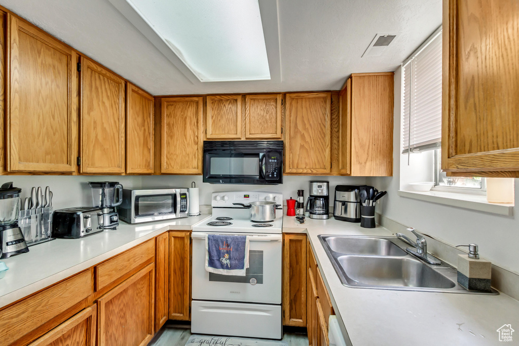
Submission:
<svg viewBox="0 0 519 346">
<path fill-rule="evenodd" d="M 52 224 L 52 207 L 22 210 L 18 214 L 18 226 L 22 230 L 27 245 L 52 240 L 50 227 Z"/>
</svg>

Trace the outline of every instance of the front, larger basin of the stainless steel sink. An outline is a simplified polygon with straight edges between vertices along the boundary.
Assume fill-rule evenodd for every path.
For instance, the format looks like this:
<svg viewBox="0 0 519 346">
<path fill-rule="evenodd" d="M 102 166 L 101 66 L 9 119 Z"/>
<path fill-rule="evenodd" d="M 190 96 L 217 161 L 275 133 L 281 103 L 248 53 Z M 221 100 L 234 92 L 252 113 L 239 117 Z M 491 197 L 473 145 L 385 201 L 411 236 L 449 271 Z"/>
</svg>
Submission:
<svg viewBox="0 0 519 346">
<path fill-rule="evenodd" d="M 350 285 L 454 288 L 456 284 L 413 258 L 341 256 L 337 258 Z"/>
</svg>

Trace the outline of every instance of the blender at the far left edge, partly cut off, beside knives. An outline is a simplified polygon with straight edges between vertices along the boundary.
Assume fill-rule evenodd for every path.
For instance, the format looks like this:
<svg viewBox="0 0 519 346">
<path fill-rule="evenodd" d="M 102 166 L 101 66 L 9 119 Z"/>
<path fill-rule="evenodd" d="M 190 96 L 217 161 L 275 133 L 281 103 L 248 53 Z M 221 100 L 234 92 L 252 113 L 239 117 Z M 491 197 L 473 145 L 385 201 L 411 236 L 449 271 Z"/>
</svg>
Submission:
<svg viewBox="0 0 519 346">
<path fill-rule="evenodd" d="M 12 182 L 5 183 L 0 187 L 1 258 L 29 252 L 22 230 L 18 227 L 17 222 L 18 212 L 20 211 L 21 191 L 22 189 L 18 187 L 12 187 Z"/>
</svg>

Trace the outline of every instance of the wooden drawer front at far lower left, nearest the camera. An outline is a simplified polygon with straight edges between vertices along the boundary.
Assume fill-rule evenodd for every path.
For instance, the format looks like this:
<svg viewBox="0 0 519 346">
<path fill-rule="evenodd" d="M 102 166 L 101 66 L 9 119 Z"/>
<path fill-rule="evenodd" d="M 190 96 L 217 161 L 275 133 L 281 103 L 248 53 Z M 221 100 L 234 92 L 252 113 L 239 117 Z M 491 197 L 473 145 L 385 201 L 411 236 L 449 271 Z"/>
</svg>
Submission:
<svg viewBox="0 0 519 346">
<path fill-rule="evenodd" d="M 0 311 L 0 344 L 27 344 L 56 327 L 86 307 L 80 302 L 92 286 L 91 270 L 85 270 Z"/>
</svg>

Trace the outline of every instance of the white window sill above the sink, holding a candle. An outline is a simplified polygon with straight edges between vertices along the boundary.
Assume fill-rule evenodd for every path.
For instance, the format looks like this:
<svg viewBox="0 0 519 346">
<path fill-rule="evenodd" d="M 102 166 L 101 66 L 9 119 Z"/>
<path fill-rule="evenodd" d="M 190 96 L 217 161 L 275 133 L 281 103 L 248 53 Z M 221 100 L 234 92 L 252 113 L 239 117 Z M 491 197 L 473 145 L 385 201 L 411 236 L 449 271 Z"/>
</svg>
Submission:
<svg viewBox="0 0 519 346">
<path fill-rule="evenodd" d="M 514 212 L 513 203 L 489 203 L 486 196 L 473 195 L 469 193 L 445 192 L 445 191 L 403 191 L 398 195 L 422 201 L 458 206 L 461 208 L 477 210 L 492 214 L 512 216 Z"/>
</svg>

